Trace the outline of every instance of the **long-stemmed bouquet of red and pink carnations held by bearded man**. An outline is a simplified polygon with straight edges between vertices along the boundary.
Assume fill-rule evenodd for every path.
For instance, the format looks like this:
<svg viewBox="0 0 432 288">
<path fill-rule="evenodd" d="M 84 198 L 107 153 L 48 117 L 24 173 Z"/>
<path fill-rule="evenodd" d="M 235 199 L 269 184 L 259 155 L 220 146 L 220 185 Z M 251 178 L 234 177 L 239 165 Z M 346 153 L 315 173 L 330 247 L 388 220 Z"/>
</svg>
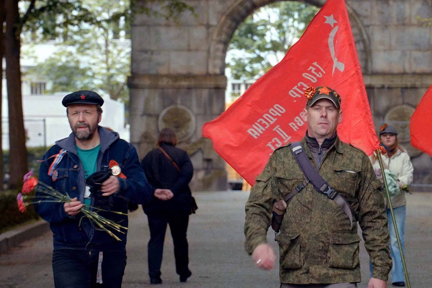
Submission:
<svg viewBox="0 0 432 288">
<path fill-rule="evenodd" d="M 36 192 L 38 192 L 38 196 L 29 195 L 29 193 L 32 192 L 33 189 L 36 189 Z M 38 198 L 37 201 L 35 201 L 36 197 Z M 36 179 L 35 176 L 33 176 L 33 171 L 30 171 L 29 173 L 24 175 L 24 185 L 22 186 L 21 193 L 18 193 L 18 195 L 16 196 L 16 201 L 18 204 L 19 211 L 24 213 L 28 205 L 42 203 L 42 202 L 67 203 L 67 202 L 72 202 L 72 198 L 67 193 L 66 194 L 60 193 L 59 191 L 45 184 L 44 182 L 38 181 L 38 179 Z M 127 230 L 127 227 L 121 226 L 117 222 L 111 221 L 99 215 L 98 212 L 109 211 L 111 213 L 121 214 L 121 215 L 127 215 L 127 213 L 105 210 L 102 208 L 92 207 L 89 205 L 84 205 L 80 211 L 84 214 L 83 217 L 89 218 L 90 223 L 105 230 L 105 232 L 107 232 L 109 235 L 114 237 L 114 239 L 121 241 L 121 239 L 118 238 L 110 229 L 124 234 L 124 231 L 122 231 L 122 229 Z M 81 221 L 79 221 L 79 225 L 80 224 Z"/>
</svg>

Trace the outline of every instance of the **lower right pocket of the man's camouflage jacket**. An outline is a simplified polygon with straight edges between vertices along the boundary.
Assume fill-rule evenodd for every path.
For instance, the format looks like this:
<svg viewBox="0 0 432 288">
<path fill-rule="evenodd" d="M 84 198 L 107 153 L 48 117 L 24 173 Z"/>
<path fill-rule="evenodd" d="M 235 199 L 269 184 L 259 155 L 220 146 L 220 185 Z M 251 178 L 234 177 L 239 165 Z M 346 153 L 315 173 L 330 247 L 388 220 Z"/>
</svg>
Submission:
<svg viewBox="0 0 432 288">
<path fill-rule="evenodd" d="M 359 242 L 357 233 L 334 233 L 328 249 L 330 268 L 354 269 L 360 265 Z"/>
</svg>

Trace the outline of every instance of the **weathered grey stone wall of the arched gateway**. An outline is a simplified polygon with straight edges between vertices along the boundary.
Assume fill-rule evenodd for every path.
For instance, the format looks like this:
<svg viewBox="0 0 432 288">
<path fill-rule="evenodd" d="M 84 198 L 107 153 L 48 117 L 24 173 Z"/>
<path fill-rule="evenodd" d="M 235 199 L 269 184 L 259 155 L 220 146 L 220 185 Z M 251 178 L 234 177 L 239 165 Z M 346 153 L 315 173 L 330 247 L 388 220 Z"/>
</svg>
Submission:
<svg viewBox="0 0 432 288">
<path fill-rule="evenodd" d="M 201 128 L 224 111 L 225 55 L 232 33 L 255 9 L 275 0 L 185 2 L 195 15 L 184 13 L 177 22 L 136 16 L 129 79 L 131 142 L 143 157 L 163 127 L 174 127 L 181 136 L 179 147 L 188 150 L 194 163 L 192 189 L 226 189 L 225 163 L 202 138 Z M 306 2 L 321 6 L 325 1 Z M 432 82 L 432 29 L 416 18 L 430 17 L 432 3 L 350 0 L 347 8 L 375 124 L 385 120 L 406 129 L 410 111 Z M 405 134 L 401 142 L 409 144 Z M 409 150 L 416 182 L 431 183 L 430 157 Z"/>
</svg>

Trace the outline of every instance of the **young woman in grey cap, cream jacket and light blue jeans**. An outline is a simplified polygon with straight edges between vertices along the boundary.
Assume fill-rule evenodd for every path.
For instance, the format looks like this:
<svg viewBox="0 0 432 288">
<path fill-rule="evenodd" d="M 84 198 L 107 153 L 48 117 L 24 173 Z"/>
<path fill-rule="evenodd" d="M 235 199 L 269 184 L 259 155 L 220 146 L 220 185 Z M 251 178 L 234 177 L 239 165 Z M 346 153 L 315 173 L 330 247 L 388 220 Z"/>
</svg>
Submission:
<svg viewBox="0 0 432 288">
<path fill-rule="evenodd" d="M 406 217 L 406 205 L 404 187 L 407 187 L 413 181 L 413 164 L 407 150 L 399 145 L 397 141 L 397 131 L 394 127 L 384 124 L 380 127 L 380 142 L 387 149 L 387 153 L 382 155 L 384 169 L 393 175 L 387 176 L 389 191 L 391 192 L 391 204 L 393 205 L 394 216 L 396 218 L 397 230 L 404 251 L 403 232 Z M 382 182 L 381 169 L 378 159 L 375 155 L 371 156 L 372 166 L 374 167 L 377 177 Z M 387 173 L 386 173 L 387 175 Z M 392 185 L 393 184 L 393 185 Z M 384 198 L 385 200 L 385 198 Z M 388 205 L 386 205 L 388 207 Z M 393 268 L 391 269 L 391 282 L 393 286 L 405 286 L 405 277 L 403 275 L 402 259 L 397 246 L 396 233 L 394 231 L 390 209 L 387 208 L 388 230 L 390 232 L 390 254 L 393 259 Z"/>
</svg>

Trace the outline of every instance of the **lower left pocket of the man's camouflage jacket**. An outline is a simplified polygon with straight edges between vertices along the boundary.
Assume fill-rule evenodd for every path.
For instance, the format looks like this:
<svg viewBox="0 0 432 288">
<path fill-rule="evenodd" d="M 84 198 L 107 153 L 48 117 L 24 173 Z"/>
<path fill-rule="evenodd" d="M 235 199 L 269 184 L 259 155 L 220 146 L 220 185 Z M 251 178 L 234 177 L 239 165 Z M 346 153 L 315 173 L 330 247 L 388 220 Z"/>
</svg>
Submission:
<svg viewBox="0 0 432 288">
<path fill-rule="evenodd" d="M 304 261 L 300 251 L 300 233 L 281 232 L 276 236 L 279 243 L 281 269 L 300 269 Z"/>
</svg>

